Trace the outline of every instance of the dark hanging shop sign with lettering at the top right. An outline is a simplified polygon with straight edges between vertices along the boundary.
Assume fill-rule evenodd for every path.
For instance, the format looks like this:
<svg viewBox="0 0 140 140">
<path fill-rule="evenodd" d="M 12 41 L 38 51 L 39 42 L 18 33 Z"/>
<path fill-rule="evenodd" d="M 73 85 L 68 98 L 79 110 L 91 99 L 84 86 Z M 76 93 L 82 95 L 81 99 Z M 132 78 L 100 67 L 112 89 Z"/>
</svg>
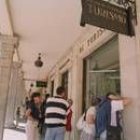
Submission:
<svg viewBox="0 0 140 140">
<path fill-rule="evenodd" d="M 103 0 L 82 0 L 81 26 L 85 24 L 133 36 L 131 8 L 122 8 Z"/>
</svg>

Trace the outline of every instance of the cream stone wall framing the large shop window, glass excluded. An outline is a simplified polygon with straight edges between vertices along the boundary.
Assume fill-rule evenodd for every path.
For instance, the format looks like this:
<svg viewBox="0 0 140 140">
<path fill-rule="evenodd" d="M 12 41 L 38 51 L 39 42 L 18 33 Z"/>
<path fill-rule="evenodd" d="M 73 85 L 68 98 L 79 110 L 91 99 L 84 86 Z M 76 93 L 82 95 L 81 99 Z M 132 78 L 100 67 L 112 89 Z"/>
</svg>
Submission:
<svg viewBox="0 0 140 140">
<path fill-rule="evenodd" d="M 74 101 L 72 140 L 79 139 L 76 123 L 82 114 L 83 59 L 115 35 L 117 34 L 114 32 L 88 26 L 83 35 L 73 44 L 64 57 L 62 57 L 60 63 L 58 63 L 62 65 L 69 54 L 72 54 L 72 57 L 70 57 L 71 64 L 69 64 L 69 66 L 66 65 L 63 68 L 63 71 L 69 69 L 69 97 Z M 136 38 L 138 38 L 137 35 Z M 119 35 L 118 38 L 121 65 L 121 91 L 123 96 L 131 97 L 133 99 L 133 103 L 124 112 L 125 140 L 139 140 L 140 74 L 138 70 L 140 65 L 137 52 L 139 48 L 138 41 L 136 41 L 135 37 L 130 38 L 123 35 Z M 60 65 L 57 66 L 60 67 Z M 59 68 L 57 69 L 57 73 L 59 73 L 59 77 L 61 77 L 62 71 L 60 71 Z M 55 80 L 58 81 L 57 79 Z"/>
</svg>

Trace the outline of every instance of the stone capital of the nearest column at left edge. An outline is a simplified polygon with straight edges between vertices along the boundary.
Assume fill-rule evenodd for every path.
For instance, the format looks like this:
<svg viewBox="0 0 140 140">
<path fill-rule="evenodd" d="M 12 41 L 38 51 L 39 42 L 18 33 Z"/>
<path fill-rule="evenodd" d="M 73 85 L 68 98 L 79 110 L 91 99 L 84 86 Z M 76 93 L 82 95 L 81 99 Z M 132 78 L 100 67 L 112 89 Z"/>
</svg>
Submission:
<svg viewBox="0 0 140 140">
<path fill-rule="evenodd" d="M 9 35 L 0 35 L 0 42 L 4 44 L 15 45 L 15 47 L 17 47 L 19 43 L 19 38 Z"/>
</svg>

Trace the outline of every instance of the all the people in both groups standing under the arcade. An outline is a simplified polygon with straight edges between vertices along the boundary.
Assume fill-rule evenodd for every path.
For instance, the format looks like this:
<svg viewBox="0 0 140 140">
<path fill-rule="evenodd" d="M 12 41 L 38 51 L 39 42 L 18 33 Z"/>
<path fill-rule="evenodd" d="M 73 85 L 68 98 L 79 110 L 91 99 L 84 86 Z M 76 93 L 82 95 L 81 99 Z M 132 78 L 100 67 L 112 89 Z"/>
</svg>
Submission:
<svg viewBox="0 0 140 140">
<path fill-rule="evenodd" d="M 65 88 L 60 86 L 56 96 L 45 96 L 34 92 L 26 103 L 27 140 L 71 140 L 72 105 L 66 100 Z M 120 97 L 115 93 L 92 99 L 77 123 L 80 140 L 121 140 L 122 110 L 130 104 L 131 99 Z"/>
</svg>

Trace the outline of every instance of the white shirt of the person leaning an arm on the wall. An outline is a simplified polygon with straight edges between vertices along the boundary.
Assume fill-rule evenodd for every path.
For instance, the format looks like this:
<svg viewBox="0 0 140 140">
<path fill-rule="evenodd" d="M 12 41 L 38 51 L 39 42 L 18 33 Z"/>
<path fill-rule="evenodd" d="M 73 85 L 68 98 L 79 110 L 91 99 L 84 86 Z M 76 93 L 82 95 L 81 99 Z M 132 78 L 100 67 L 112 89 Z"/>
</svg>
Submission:
<svg viewBox="0 0 140 140">
<path fill-rule="evenodd" d="M 124 109 L 123 101 L 113 100 L 111 101 L 111 126 L 117 126 L 116 112 Z"/>
</svg>

